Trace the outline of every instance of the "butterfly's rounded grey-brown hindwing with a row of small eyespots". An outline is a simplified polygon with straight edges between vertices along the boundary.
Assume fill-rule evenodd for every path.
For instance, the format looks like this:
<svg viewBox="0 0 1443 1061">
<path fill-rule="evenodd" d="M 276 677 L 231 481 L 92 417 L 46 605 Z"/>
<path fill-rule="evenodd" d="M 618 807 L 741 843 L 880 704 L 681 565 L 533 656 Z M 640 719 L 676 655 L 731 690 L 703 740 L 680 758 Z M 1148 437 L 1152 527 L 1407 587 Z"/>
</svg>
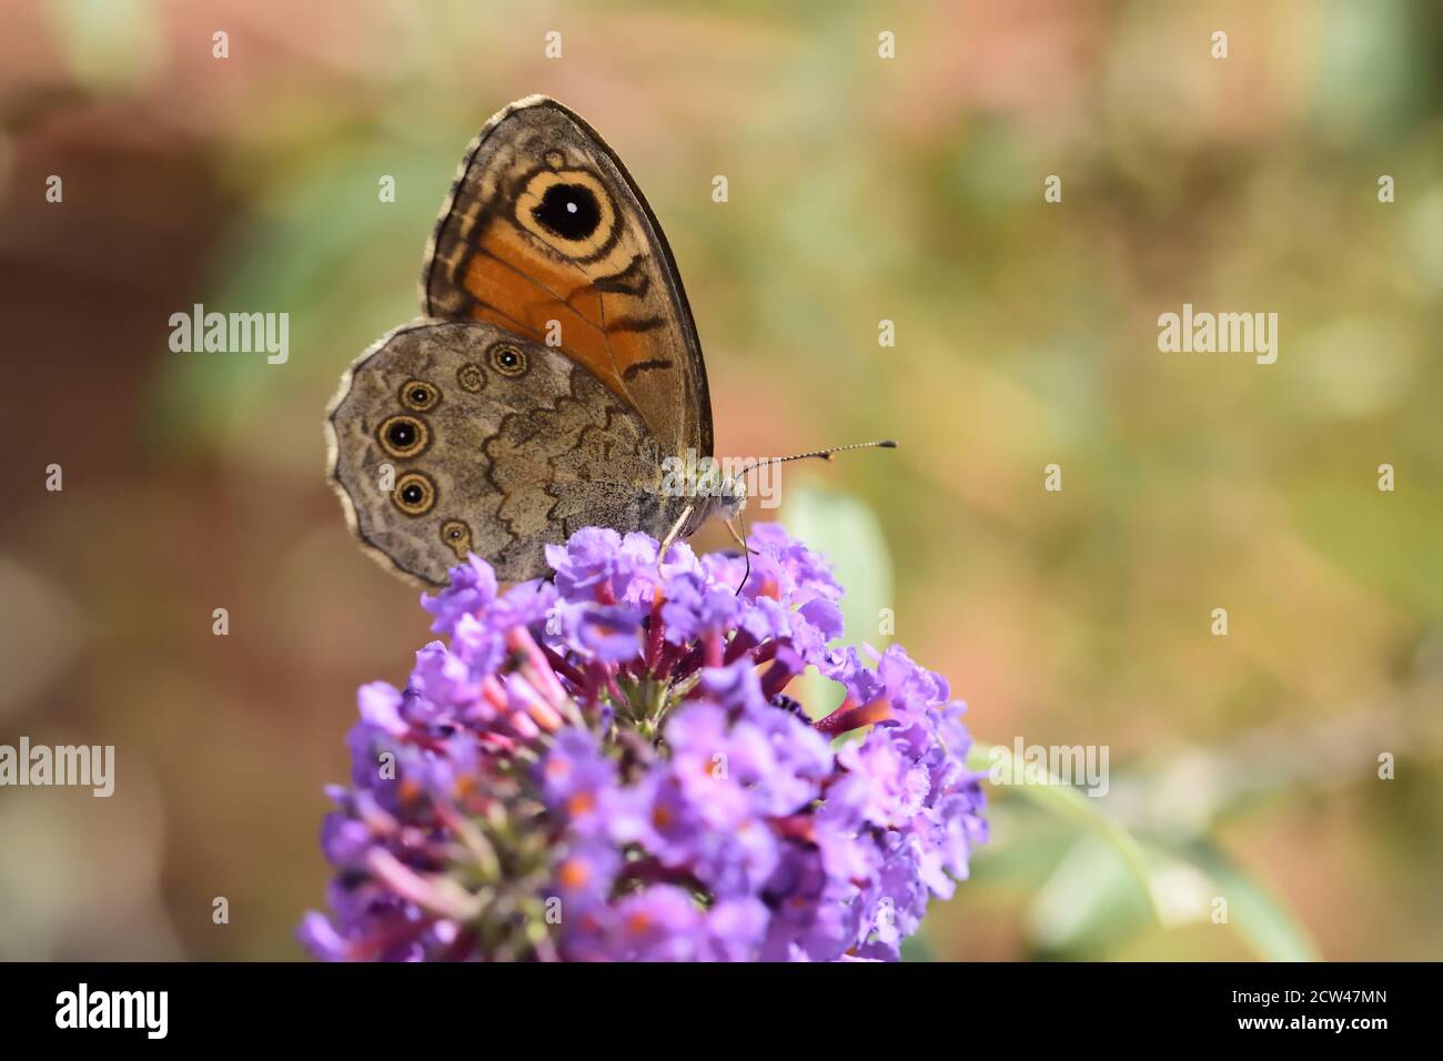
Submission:
<svg viewBox="0 0 1443 1061">
<path fill-rule="evenodd" d="M 420 320 L 362 354 L 326 419 L 330 481 L 361 543 L 443 585 L 475 551 L 505 582 L 580 527 L 664 533 L 646 424 L 554 349 Z"/>
</svg>

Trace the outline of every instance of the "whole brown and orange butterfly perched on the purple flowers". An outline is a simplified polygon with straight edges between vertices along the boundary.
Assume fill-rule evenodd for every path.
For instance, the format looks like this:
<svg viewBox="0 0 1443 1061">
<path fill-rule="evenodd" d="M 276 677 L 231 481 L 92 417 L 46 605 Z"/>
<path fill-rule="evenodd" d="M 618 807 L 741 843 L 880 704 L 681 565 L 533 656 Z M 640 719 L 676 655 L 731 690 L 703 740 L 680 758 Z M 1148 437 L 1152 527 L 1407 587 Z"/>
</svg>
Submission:
<svg viewBox="0 0 1443 1061">
<path fill-rule="evenodd" d="M 537 577 L 582 527 L 665 546 L 746 499 L 710 462 L 706 364 L 661 225 L 602 137 L 540 95 L 472 141 L 421 316 L 345 372 L 326 440 L 362 547 L 433 586 L 470 553 L 502 582 Z"/>
</svg>

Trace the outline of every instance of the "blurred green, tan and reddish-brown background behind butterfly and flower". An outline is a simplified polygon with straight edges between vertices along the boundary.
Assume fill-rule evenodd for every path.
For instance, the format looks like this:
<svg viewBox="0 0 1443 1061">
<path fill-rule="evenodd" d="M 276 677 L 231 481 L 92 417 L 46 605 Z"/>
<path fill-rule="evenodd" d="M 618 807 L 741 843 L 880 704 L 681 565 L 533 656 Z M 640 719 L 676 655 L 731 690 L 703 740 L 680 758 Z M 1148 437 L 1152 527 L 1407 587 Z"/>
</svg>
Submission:
<svg viewBox="0 0 1443 1061">
<path fill-rule="evenodd" d="M 912 957 L 1443 957 L 1440 72 L 1423 0 L 7 1 L 0 743 L 117 791 L 0 790 L 0 957 L 302 956 L 354 690 L 430 637 L 322 413 L 530 92 L 661 218 L 719 452 L 902 442 L 784 479 L 851 634 L 890 608 L 978 741 L 1110 749 L 1102 800 L 994 791 Z M 290 359 L 173 354 L 196 302 Z M 1277 364 L 1159 352 L 1185 302 Z"/>
</svg>

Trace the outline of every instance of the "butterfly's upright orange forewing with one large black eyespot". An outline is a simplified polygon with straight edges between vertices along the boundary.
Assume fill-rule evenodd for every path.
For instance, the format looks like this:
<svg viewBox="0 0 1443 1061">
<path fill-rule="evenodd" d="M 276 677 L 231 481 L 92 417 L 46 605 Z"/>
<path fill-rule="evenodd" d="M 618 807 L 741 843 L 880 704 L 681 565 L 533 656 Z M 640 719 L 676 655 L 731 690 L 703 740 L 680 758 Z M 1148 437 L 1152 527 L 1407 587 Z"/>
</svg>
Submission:
<svg viewBox="0 0 1443 1061">
<path fill-rule="evenodd" d="M 476 137 L 421 274 L 431 318 L 557 346 L 641 414 L 664 453 L 711 453 L 711 404 L 671 250 L 576 114 L 528 97 Z"/>
</svg>

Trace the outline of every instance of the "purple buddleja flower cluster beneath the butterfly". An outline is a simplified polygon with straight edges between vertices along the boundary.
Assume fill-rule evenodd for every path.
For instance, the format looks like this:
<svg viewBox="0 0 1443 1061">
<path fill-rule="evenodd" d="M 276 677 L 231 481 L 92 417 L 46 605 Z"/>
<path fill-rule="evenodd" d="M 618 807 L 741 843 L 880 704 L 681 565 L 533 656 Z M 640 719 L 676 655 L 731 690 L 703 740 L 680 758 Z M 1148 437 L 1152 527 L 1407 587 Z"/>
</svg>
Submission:
<svg viewBox="0 0 1443 1061">
<path fill-rule="evenodd" d="M 658 570 L 654 538 L 590 528 L 550 580 L 498 593 L 472 557 L 423 596 L 449 645 L 359 691 L 312 953 L 896 959 L 986 837 L 962 704 L 899 647 L 828 648 L 827 564 L 779 527 L 749 544 L 749 575 L 685 544 Z M 846 690 L 817 722 L 788 696 L 808 667 Z"/>
</svg>

